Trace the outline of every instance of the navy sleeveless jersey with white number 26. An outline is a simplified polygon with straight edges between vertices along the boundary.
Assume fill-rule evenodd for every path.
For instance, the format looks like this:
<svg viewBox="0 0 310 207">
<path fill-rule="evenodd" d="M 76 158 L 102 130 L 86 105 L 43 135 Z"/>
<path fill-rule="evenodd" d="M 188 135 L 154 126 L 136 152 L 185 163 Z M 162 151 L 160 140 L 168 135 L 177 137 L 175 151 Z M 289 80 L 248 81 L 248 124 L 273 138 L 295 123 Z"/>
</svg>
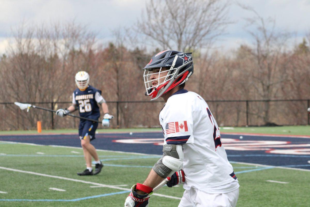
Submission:
<svg viewBox="0 0 310 207">
<path fill-rule="evenodd" d="M 101 95 L 101 91 L 91 85 L 88 85 L 85 91 L 80 91 L 78 88 L 75 89 L 73 94 L 80 116 L 95 120 L 99 119 L 100 109 L 95 100 L 96 92 L 99 92 Z"/>
</svg>

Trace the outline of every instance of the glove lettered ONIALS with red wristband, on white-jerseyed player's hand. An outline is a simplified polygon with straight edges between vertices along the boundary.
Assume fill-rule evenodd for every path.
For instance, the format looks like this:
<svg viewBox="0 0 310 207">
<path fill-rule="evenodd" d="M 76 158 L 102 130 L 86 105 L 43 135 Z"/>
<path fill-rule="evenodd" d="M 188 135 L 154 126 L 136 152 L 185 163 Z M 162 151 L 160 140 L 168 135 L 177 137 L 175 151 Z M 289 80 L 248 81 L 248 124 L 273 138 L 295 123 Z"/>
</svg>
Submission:
<svg viewBox="0 0 310 207">
<path fill-rule="evenodd" d="M 140 195 L 136 190 L 143 191 L 146 194 Z M 131 192 L 125 200 L 125 207 L 148 207 L 148 198 L 153 194 L 153 188 L 137 183 L 131 187 Z"/>
</svg>

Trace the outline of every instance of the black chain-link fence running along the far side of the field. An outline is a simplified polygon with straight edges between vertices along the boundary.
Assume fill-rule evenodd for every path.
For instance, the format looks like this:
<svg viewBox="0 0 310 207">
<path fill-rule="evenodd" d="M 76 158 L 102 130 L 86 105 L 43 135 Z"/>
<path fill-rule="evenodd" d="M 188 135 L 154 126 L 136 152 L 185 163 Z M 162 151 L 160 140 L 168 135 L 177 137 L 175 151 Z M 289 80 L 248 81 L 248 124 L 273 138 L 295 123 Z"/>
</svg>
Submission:
<svg viewBox="0 0 310 207">
<path fill-rule="evenodd" d="M 219 126 L 261 126 L 309 125 L 307 108 L 310 100 L 245 100 L 206 101 Z M 66 108 L 71 102 L 36 102 L 40 107 L 57 110 Z M 109 112 L 114 115 L 112 128 L 159 127 L 158 115 L 164 101 L 108 101 Z M 77 128 L 79 119 L 70 116 L 59 117 L 52 112 L 30 108 L 20 110 L 14 103 L 0 103 L 0 130 L 35 129 L 37 121 L 42 121 L 43 129 Z M 78 112 L 74 112 L 78 115 Z M 101 111 L 102 115 L 102 111 Z M 102 116 L 101 116 L 102 117 Z M 101 120 L 101 118 L 100 118 Z M 102 128 L 101 124 L 99 128 Z"/>
</svg>

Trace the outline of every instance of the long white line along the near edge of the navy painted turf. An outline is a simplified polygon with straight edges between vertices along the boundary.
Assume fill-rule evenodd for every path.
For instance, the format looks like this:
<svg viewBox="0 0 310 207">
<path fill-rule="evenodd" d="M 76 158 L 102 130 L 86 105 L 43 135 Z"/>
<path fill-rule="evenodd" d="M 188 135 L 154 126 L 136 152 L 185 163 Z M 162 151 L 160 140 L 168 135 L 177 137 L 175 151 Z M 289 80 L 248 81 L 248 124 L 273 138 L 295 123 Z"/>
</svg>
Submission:
<svg viewBox="0 0 310 207">
<path fill-rule="evenodd" d="M 51 147 L 62 147 L 62 148 L 82 149 L 82 147 L 75 147 L 75 146 L 40 145 L 40 144 L 33 144 L 33 143 L 10 142 L 10 141 L 0 141 L 0 142 L 12 143 L 12 144 L 25 144 L 25 145 L 32 145 L 32 146 L 51 146 Z M 102 151 L 102 152 L 116 152 L 116 153 L 133 154 L 133 155 L 158 156 L 158 155 L 155 155 L 155 154 L 144 154 L 144 153 L 137 153 L 137 152 L 123 152 L 123 151 L 100 150 L 100 149 L 96 149 L 96 151 Z M 309 161 L 310 161 L 310 160 L 309 160 Z M 255 163 L 247 163 L 247 162 L 232 162 L 232 163 L 247 164 L 247 165 L 254 165 L 254 166 L 263 166 L 263 167 L 274 167 L 274 168 L 289 169 L 289 170 L 301 170 L 301 171 L 310 172 L 309 169 L 302 169 L 302 168 L 288 168 L 288 167 L 273 166 L 273 165 L 264 165 L 264 164 L 255 164 Z"/>
</svg>

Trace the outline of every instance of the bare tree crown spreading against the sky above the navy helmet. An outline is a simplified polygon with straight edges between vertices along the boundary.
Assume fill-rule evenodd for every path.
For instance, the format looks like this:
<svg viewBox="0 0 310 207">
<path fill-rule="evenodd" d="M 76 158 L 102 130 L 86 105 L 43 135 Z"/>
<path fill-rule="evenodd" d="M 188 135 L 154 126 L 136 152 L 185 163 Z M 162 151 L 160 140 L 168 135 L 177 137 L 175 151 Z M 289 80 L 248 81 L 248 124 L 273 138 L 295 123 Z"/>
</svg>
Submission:
<svg viewBox="0 0 310 207">
<path fill-rule="evenodd" d="M 228 6 L 227 0 L 150 0 L 136 31 L 162 49 L 206 48 L 229 24 Z"/>
</svg>

